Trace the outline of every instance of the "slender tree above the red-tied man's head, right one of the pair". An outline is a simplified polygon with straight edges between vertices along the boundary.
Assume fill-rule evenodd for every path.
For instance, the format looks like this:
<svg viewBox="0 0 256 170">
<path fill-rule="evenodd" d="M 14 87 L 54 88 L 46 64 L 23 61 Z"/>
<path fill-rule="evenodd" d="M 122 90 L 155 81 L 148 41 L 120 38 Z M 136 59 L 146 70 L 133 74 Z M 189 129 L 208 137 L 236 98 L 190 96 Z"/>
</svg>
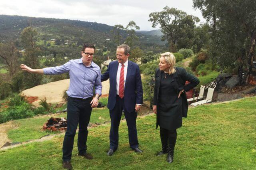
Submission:
<svg viewBox="0 0 256 170">
<path fill-rule="evenodd" d="M 128 33 L 128 36 L 126 37 L 126 44 L 128 44 L 131 49 L 134 46 L 135 41 L 139 39 L 135 35 L 135 30 L 140 30 L 140 27 L 137 26 L 134 21 L 130 21 L 126 26 L 126 32 Z"/>
</svg>

